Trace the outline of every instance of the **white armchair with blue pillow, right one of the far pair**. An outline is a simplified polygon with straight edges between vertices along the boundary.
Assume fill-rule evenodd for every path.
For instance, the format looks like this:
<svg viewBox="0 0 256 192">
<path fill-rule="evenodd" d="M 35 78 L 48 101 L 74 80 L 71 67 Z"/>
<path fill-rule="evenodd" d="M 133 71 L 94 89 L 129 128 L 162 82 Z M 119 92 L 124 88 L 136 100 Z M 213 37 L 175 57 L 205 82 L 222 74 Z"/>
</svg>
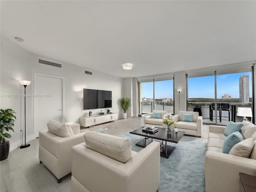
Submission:
<svg viewBox="0 0 256 192">
<path fill-rule="evenodd" d="M 193 114 L 192 122 L 182 121 L 182 114 Z M 172 116 L 175 120 L 175 128 L 184 131 L 185 134 L 201 137 L 203 128 L 203 117 L 198 112 L 180 111 L 179 114 Z"/>
</svg>

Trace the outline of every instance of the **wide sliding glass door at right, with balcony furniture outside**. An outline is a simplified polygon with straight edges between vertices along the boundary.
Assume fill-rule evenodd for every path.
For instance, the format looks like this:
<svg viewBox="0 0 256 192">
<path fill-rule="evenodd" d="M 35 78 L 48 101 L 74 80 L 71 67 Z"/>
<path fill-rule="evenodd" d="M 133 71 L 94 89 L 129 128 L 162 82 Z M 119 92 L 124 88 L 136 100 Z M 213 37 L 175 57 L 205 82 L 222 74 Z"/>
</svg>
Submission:
<svg viewBox="0 0 256 192">
<path fill-rule="evenodd" d="M 198 111 L 203 122 L 226 125 L 242 121 L 238 107 L 252 105 L 252 65 L 187 73 L 188 111 Z M 250 117 L 248 118 L 251 119 Z"/>
</svg>

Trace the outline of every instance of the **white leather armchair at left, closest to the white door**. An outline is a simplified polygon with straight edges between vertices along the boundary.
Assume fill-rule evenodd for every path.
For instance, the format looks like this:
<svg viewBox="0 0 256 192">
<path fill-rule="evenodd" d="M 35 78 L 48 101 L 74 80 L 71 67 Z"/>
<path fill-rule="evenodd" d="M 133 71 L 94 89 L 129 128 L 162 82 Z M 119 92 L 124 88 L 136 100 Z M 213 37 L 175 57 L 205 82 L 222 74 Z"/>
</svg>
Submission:
<svg viewBox="0 0 256 192">
<path fill-rule="evenodd" d="M 84 142 L 80 124 L 70 124 L 70 127 L 74 135 L 68 137 L 60 137 L 49 131 L 39 132 L 40 163 L 56 176 L 58 183 L 71 172 L 71 147 Z"/>
</svg>

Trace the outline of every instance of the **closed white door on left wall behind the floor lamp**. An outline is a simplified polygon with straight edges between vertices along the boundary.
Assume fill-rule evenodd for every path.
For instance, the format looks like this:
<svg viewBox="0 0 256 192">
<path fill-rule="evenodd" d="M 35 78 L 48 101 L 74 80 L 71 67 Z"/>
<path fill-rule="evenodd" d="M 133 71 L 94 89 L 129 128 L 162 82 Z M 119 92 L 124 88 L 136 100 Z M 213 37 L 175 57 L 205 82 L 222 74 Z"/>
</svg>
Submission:
<svg viewBox="0 0 256 192">
<path fill-rule="evenodd" d="M 60 77 L 35 74 L 34 130 L 36 137 L 46 131 L 49 120 L 62 121 L 62 82 Z"/>
</svg>

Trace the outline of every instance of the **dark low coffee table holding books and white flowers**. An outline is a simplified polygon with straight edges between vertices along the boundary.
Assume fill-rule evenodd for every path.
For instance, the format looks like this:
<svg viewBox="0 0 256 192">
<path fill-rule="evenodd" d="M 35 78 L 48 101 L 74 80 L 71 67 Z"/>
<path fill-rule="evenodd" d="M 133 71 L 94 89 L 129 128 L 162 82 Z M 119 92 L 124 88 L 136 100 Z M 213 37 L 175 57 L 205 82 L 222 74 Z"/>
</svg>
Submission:
<svg viewBox="0 0 256 192">
<path fill-rule="evenodd" d="M 130 133 L 145 137 L 144 139 L 142 139 L 141 141 L 136 143 L 136 146 L 140 146 L 140 147 L 148 146 L 153 141 L 153 139 L 162 140 L 163 151 L 161 152 L 160 155 L 165 158 L 169 158 L 170 154 L 172 154 L 173 150 L 176 147 L 167 145 L 166 142 L 168 141 L 168 142 L 172 142 L 172 143 L 178 143 L 180 138 L 182 138 L 182 136 L 184 135 L 185 132 L 184 131 L 178 131 L 178 132 L 172 131 L 171 134 L 167 134 L 166 128 L 158 127 L 158 132 L 156 132 L 154 134 L 142 132 L 142 128 L 138 128 L 133 131 L 130 131 Z M 149 139 L 149 138 L 151 138 L 151 139 Z M 165 141 L 165 144 L 164 144 L 164 141 Z"/>
</svg>

